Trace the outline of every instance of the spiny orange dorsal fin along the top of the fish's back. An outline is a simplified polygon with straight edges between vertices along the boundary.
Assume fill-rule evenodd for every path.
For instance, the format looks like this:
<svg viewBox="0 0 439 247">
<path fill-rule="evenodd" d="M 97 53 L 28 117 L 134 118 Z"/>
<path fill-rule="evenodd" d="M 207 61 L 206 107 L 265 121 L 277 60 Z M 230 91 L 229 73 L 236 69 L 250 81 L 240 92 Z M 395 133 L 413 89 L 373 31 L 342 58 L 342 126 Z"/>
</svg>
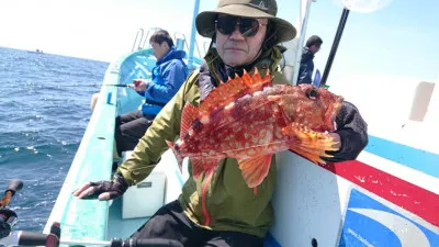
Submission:
<svg viewBox="0 0 439 247">
<path fill-rule="evenodd" d="M 268 85 L 271 85 L 269 72 L 261 78 L 257 68 L 252 77 L 244 70 L 243 77 L 236 75 L 235 79 L 229 78 L 227 82 L 221 82 L 217 88 L 214 88 L 200 103 L 200 114 L 209 114 L 212 110 L 225 106 L 246 93 L 262 90 Z"/>
</svg>

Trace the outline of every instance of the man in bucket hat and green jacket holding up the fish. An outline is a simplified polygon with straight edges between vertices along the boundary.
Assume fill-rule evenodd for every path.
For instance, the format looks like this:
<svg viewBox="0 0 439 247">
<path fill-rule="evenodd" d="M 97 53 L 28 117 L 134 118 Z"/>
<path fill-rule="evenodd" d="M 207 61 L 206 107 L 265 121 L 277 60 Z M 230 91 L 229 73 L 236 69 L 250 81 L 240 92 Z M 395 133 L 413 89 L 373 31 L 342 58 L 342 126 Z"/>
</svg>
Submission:
<svg viewBox="0 0 439 247">
<path fill-rule="evenodd" d="M 200 13 L 198 32 L 212 38 L 203 65 L 157 115 L 113 181 L 88 182 L 74 195 L 114 199 L 128 186 L 143 181 L 168 149 L 166 141 L 180 134 L 183 105 L 199 104 L 219 81 L 243 75 L 244 69 L 251 74 L 258 68 L 262 75 L 270 69 L 274 83 L 286 83 L 277 69 L 282 58 L 277 45 L 294 38 L 296 31 L 275 14 L 275 0 L 219 0 L 217 9 Z M 338 131 L 333 135 L 341 145 L 329 161 L 354 159 L 368 143 L 367 124 L 351 104 L 344 105 L 336 122 Z M 247 187 L 233 158 L 218 164 L 210 183 L 189 177 L 179 199 L 159 209 L 132 237 L 175 239 L 191 247 L 263 246 L 273 220 L 270 201 L 275 184 L 274 162 L 272 159 L 257 193 Z M 206 191 L 205 197 L 201 195 L 202 190 Z"/>
</svg>

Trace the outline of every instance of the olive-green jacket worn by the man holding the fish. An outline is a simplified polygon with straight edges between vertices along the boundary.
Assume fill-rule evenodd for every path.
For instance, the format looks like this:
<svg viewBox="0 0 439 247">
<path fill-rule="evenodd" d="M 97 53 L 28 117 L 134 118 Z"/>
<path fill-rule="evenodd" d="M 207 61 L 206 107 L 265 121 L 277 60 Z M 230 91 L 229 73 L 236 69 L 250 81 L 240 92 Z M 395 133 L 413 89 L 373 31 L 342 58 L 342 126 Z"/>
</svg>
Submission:
<svg viewBox="0 0 439 247">
<path fill-rule="evenodd" d="M 261 56 L 263 57 L 263 56 Z M 274 48 L 270 55 L 273 61 L 269 65 L 274 83 L 286 83 L 282 74 L 277 71 L 281 53 Z M 209 60 L 206 59 L 209 63 Z M 212 63 L 211 63 L 212 65 Z M 261 75 L 266 75 L 267 64 L 256 65 Z M 144 180 L 154 169 L 154 164 L 168 149 L 165 141 L 176 141 L 179 137 L 182 109 L 185 103 L 200 103 L 199 70 L 193 71 L 179 92 L 161 110 L 154 123 L 149 126 L 132 158 L 127 159 L 117 169 L 125 181 L 132 186 Z M 274 156 L 273 156 L 274 157 Z M 267 178 L 257 191 L 245 183 L 236 159 L 221 160 L 214 172 L 211 183 L 207 184 L 205 201 L 202 201 L 201 191 L 203 177 L 189 177 L 182 188 L 179 202 L 184 213 L 196 225 L 215 231 L 237 231 L 263 237 L 272 224 L 273 210 L 271 197 L 275 184 L 275 161 L 271 162 Z M 256 192 L 256 193 L 255 193 Z M 205 211 L 203 211 L 203 204 Z M 205 225 L 206 218 L 210 224 Z"/>
</svg>

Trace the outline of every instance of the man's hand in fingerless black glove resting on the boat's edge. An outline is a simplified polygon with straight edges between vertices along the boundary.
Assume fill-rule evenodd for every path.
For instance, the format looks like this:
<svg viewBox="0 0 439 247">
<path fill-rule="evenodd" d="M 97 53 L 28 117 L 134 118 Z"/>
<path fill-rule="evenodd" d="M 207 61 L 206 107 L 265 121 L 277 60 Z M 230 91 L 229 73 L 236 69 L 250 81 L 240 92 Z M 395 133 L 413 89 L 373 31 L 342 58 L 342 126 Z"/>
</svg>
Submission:
<svg viewBox="0 0 439 247">
<path fill-rule="evenodd" d="M 79 199 L 112 200 L 121 197 L 128 184 L 121 175 L 115 175 L 113 181 L 87 182 L 74 191 Z"/>
</svg>

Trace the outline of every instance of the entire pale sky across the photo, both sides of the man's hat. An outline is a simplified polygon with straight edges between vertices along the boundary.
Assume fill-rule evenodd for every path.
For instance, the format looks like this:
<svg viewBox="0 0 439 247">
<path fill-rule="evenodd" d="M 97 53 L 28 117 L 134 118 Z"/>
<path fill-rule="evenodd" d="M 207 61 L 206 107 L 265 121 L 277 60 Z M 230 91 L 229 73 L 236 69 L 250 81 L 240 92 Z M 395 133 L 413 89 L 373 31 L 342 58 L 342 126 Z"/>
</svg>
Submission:
<svg viewBox="0 0 439 247">
<path fill-rule="evenodd" d="M 341 14 L 339 2 L 312 4 L 305 38 L 324 40 L 315 68 L 324 72 Z M 439 79 L 438 0 L 357 0 L 390 3 L 372 12 L 351 11 L 329 78 L 374 74 Z M 0 0 L 0 46 L 113 61 L 131 52 L 139 27 L 160 26 L 190 38 L 193 0 Z M 200 11 L 217 0 L 201 0 Z M 297 0 L 278 0 L 278 16 L 295 25 Z M 417 11 L 414 11 L 416 9 Z M 421 13 L 421 14 L 420 14 Z M 435 24 L 436 23 L 436 24 Z M 198 36 L 200 49 L 203 40 Z M 196 52 L 196 50 L 195 50 Z M 196 55 L 196 54 L 195 54 Z"/>
</svg>

